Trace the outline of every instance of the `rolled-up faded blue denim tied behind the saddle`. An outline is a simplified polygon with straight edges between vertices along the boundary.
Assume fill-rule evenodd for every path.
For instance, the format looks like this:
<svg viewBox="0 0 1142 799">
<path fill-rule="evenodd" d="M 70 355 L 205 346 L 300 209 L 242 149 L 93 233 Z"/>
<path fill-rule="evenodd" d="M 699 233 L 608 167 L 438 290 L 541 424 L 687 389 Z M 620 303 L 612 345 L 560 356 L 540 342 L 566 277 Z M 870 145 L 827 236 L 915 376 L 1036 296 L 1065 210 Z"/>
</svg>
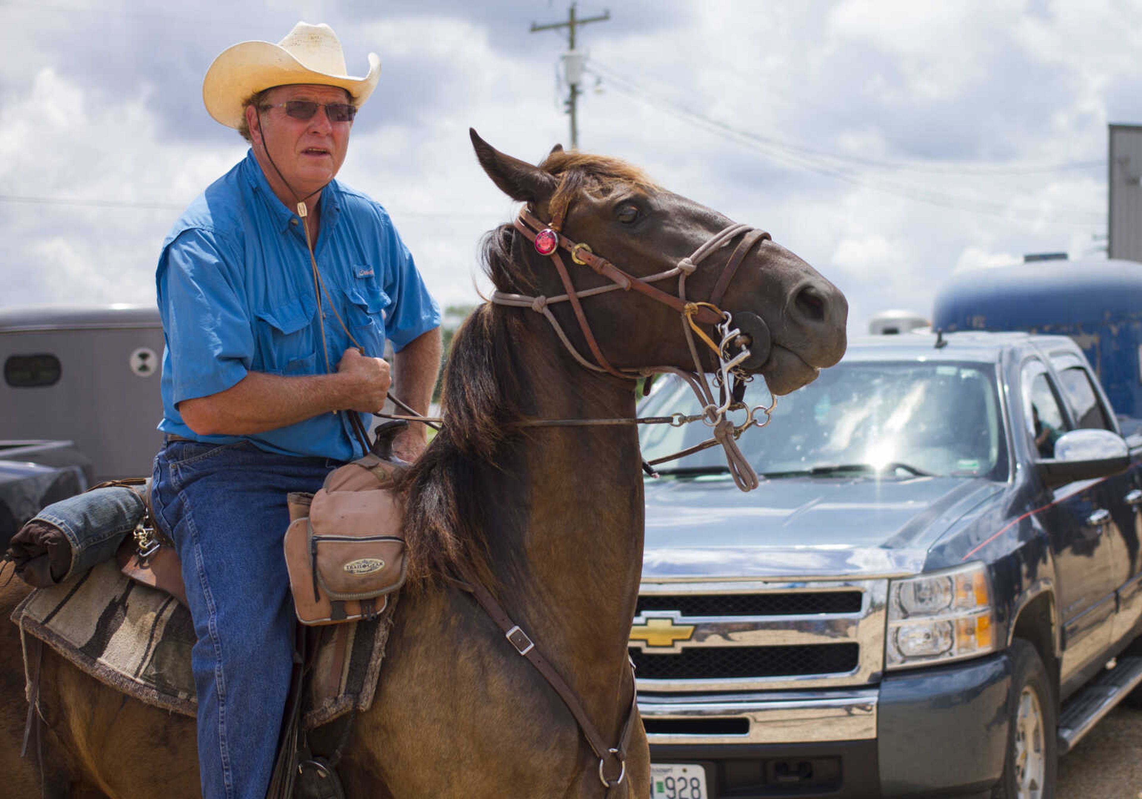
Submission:
<svg viewBox="0 0 1142 799">
<path fill-rule="evenodd" d="M 61 580 L 65 582 L 114 557 L 145 514 L 146 502 L 139 491 L 108 486 L 53 502 L 35 518 L 59 527 L 71 543 L 71 568 Z"/>
</svg>

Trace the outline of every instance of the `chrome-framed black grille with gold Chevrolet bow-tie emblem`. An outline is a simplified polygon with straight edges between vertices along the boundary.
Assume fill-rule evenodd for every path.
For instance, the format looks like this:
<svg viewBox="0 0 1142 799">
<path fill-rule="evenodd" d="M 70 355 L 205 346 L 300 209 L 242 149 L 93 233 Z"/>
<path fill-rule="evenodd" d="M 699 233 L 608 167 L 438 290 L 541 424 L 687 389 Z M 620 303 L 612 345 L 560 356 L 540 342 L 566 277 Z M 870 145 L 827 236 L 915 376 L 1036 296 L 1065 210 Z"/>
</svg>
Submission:
<svg viewBox="0 0 1142 799">
<path fill-rule="evenodd" d="M 643 583 L 641 693 L 809 689 L 879 680 L 887 580 Z"/>
</svg>

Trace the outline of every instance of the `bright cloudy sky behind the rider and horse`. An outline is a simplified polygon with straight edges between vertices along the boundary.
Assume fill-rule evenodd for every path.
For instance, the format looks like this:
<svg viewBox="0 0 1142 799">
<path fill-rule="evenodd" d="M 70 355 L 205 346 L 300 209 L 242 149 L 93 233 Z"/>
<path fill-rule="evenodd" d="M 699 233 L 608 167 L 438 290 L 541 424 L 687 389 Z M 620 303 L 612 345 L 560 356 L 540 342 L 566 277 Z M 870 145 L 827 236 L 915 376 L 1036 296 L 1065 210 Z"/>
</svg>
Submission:
<svg viewBox="0 0 1142 799">
<path fill-rule="evenodd" d="M 0 0 L 0 307 L 153 302 L 179 210 L 246 145 L 210 60 L 298 19 L 381 58 L 340 178 L 384 203 L 444 304 L 513 210 L 467 128 L 568 143 L 568 0 Z M 1101 257 L 1107 124 L 1142 122 L 1142 2 L 582 0 L 582 150 L 772 232 L 874 314 L 928 314 L 957 269 Z"/>
</svg>

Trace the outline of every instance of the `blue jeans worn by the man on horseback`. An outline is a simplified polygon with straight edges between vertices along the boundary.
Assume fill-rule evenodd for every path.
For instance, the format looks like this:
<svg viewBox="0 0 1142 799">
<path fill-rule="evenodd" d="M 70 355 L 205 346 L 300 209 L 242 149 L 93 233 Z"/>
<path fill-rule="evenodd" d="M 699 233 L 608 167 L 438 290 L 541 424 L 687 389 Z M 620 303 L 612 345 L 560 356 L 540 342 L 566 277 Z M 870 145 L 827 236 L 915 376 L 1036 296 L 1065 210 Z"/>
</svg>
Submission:
<svg viewBox="0 0 1142 799">
<path fill-rule="evenodd" d="M 286 494 L 316 491 L 335 466 L 244 442 L 171 441 L 154 460 L 154 511 L 183 560 L 198 636 L 191 663 L 206 799 L 265 797 L 293 653 Z"/>
</svg>

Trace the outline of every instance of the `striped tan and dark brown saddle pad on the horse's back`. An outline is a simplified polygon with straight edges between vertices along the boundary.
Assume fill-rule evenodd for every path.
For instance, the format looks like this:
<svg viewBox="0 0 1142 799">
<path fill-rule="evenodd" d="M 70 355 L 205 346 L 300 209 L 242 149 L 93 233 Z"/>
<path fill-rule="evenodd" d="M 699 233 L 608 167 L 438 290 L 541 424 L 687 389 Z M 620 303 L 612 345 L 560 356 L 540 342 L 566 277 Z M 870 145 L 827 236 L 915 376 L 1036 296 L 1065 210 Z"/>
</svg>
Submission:
<svg viewBox="0 0 1142 799">
<path fill-rule="evenodd" d="M 395 600 L 389 596 L 372 621 L 323 628 L 303 697 L 306 729 L 372 704 Z M 191 612 L 166 591 L 122 574 L 114 560 L 32 591 L 11 620 L 99 681 L 147 704 L 195 716 Z"/>
</svg>

